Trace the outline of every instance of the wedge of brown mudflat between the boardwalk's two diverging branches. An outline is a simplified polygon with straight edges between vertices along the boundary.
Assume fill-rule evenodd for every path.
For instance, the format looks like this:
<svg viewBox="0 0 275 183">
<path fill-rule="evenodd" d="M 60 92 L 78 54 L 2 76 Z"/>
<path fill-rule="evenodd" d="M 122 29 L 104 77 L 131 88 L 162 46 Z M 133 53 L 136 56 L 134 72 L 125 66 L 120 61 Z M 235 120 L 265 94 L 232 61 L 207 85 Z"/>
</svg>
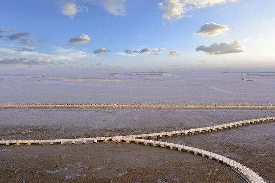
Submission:
<svg viewBox="0 0 275 183">
<path fill-rule="evenodd" d="M 257 172 L 267 182 L 275 180 L 275 124 L 248 125 L 204 134 L 156 140 L 202 148 L 231 158 Z"/>
</svg>

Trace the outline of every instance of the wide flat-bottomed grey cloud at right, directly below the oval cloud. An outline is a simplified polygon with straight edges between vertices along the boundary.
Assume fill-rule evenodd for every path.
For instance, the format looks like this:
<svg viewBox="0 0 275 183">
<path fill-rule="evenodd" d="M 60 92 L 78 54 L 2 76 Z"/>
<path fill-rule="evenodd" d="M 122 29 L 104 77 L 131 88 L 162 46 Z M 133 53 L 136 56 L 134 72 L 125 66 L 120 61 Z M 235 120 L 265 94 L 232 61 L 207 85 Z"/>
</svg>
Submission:
<svg viewBox="0 0 275 183">
<path fill-rule="evenodd" d="M 213 54 L 228 54 L 228 53 L 241 53 L 243 51 L 243 47 L 239 44 L 238 41 L 233 41 L 231 44 L 228 43 L 212 43 L 210 46 L 198 46 L 196 51 L 203 51 L 210 55 Z"/>
</svg>

